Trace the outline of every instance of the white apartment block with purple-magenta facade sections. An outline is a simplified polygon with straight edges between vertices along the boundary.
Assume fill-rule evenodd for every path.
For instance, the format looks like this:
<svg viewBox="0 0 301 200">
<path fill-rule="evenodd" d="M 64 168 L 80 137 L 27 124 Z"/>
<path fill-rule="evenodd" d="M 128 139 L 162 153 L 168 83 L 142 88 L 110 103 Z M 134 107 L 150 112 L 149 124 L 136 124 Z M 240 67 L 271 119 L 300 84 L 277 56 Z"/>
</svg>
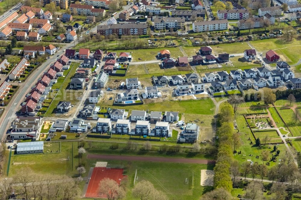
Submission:
<svg viewBox="0 0 301 200">
<path fill-rule="evenodd" d="M 236 10 L 218 10 L 217 18 L 219 20 L 242 20 L 249 18 L 249 10 L 247 9 L 236 9 Z"/>
</svg>

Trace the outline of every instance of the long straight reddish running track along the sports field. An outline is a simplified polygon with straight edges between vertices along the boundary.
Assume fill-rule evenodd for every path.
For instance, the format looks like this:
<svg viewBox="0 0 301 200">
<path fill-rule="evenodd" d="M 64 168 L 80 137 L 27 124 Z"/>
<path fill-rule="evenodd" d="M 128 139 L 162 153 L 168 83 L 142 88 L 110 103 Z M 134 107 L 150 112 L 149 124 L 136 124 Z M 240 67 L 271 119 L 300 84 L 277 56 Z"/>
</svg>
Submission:
<svg viewBox="0 0 301 200">
<path fill-rule="evenodd" d="M 122 155 L 100 155 L 88 154 L 89 159 L 106 160 L 126 160 L 126 161 L 150 161 L 150 162 L 180 162 L 192 164 L 214 164 L 214 160 L 194 159 L 194 158 L 165 158 L 165 157 L 147 157 L 147 156 L 122 156 Z"/>
</svg>

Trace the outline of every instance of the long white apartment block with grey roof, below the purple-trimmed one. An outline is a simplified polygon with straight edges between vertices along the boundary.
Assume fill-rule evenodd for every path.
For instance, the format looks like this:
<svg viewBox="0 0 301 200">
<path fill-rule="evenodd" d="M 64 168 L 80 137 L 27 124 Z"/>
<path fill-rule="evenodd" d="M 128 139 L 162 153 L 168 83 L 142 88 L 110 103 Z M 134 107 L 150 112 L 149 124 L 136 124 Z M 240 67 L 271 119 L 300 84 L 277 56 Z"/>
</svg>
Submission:
<svg viewBox="0 0 301 200">
<path fill-rule="evenodd" d="M 228 20 L 200 21 L 192 23 L 194 32 L 219 31 L 228 29 Z"/>
</svg>

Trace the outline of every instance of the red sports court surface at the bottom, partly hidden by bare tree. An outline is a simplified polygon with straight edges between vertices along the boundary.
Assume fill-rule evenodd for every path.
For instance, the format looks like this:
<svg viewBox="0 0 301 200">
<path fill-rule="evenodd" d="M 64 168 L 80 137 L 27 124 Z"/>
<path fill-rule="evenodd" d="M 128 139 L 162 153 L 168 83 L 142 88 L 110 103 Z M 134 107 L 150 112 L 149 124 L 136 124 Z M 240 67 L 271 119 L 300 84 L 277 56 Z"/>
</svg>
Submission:
<svg viewBox="0 0 301 200">
<path fill-rule="evenodd" d="M 105 194 L 101 195 L 98 193 L 99 182 L 104 178 L 110 178 L 120 184 L 123 177 L 126 177 L 123 175 L 123 169 L 95 167 L 93 169 L 85 197 L 106 198 L 107 196 Z"/>
</svg>

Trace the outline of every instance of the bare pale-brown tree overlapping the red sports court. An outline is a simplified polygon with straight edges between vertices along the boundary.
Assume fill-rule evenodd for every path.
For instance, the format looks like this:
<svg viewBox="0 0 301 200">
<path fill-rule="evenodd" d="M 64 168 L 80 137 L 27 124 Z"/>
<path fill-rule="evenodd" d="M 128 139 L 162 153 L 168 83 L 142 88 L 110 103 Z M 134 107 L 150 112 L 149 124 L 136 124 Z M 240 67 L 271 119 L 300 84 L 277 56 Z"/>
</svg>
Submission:
<svg viewBox="0 0 301 200">
<path fill-rule="evenodd" d="M 106 194 L 108 200 L 115 200 L 124 197 L 125 191 L 118 186 L 115 180 L 104 178 L 99 182 L 99 193 Z"/>
</svg>

